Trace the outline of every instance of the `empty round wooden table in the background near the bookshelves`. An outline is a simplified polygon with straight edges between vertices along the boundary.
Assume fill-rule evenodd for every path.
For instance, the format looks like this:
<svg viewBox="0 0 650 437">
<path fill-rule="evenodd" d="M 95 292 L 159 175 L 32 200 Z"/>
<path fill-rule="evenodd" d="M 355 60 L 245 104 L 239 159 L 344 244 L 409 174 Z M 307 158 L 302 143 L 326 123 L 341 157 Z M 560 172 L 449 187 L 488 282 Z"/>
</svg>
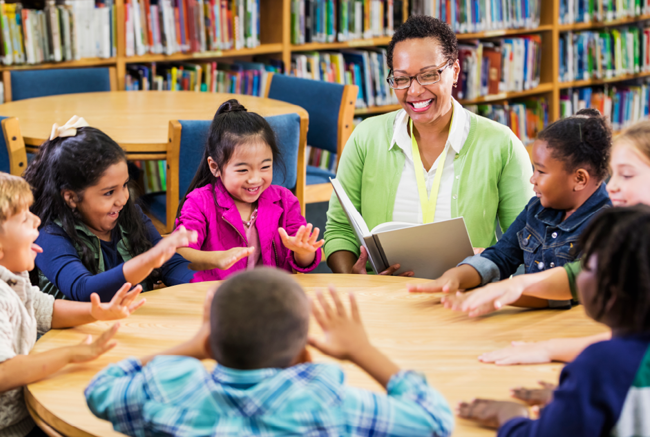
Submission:
<svg viewBox="0 0 650 437">
<path fill-rule="evenodd" d="M 165 159 L 170 120 L 212 120 L 219 105 L 232 98 L 239 100 L 248 111 L 262 116 L 297 113 L 306 135 L 309 116 L 300 106 L 275 99 L 214 92 L 62 94 L 4 103 L 0 105 L 0 115 L 18 117 L 25 145 L 31 151 L 49 138 L 52 124 L 64 124 L 76 114 L 120 144 L 129 159 Z"/>
</svg>

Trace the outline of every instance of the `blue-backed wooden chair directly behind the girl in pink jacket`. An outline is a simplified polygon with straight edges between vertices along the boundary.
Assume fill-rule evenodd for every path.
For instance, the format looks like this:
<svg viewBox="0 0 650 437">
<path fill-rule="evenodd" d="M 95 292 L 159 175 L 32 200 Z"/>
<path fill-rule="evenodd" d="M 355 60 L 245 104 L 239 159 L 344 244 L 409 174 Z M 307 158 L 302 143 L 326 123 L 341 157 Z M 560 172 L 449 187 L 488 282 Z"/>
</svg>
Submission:
<svg viewBox="0 0 650 437">
<path fill-rule="evenodd" d="M 298 155 L 304 155 L 302 120 L 298 114 L 282 114 L 266 117 L 276 132 L 278 146 L 286 166 L 286 174 L 278 168 L 273 172 L 273 183 L 299 191 Z M 211 120 L 172 120 L 169 122 L 169 142 L 167 146 L 167 190 L 145 194 L 140 198 L 149 213 L 160 220 L 166 232 L 174 229 L 174 220 L 180 199 L 190 186 L 198 166 L 201 164 L 203 149 Z M 304 183 L 304 182 L 303 182 Z M 304 190 L 304 187 L 300 187 Z M 304 205 L 298 198 L 300 205 Z M 304 214 L 304 212 L 303 212 Z"/>
</svg>

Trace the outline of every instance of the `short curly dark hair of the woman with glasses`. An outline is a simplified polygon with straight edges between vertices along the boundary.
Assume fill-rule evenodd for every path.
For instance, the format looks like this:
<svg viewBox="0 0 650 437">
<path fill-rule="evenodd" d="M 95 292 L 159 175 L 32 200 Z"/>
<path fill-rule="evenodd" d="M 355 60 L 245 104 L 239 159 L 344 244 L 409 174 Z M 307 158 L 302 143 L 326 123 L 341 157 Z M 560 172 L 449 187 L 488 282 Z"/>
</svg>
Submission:
<svg viewBox="0 0 650 437">
<path fill-rule="evenodd" d="M 388 44 L 387 64 L 393 71 L 393 51 L 398 42 L 413 40 L 415 38 L 435 38 L 442 50 L 445 59 L 455 62 L 458 59 L 458 40 L 456 34 L 445 21 L 428 15 L 412 15 L 404 24 L 397 28 L 393 39 Z"/>
</svg>

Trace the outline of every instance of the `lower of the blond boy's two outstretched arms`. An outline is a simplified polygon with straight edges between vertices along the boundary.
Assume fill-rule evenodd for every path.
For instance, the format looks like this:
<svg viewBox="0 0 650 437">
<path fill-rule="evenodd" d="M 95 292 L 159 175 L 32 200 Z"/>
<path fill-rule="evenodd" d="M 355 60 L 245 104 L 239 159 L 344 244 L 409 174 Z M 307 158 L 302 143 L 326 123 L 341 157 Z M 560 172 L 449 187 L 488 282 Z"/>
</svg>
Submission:
<svg viewBox="0 0 650 437">
<path fill-rule="evenodd" d="M 95 341 L 88 336 L 75 346 L 59 347 L 40 354 L 16 355 L 5 360 L 0 363 L 0 393 L 42 380 L 66 364 L 94 360 L 115 347 L 117 343 L 110 339 L 119 327 L 119 323 L 114 324 Z"/>
</svg>

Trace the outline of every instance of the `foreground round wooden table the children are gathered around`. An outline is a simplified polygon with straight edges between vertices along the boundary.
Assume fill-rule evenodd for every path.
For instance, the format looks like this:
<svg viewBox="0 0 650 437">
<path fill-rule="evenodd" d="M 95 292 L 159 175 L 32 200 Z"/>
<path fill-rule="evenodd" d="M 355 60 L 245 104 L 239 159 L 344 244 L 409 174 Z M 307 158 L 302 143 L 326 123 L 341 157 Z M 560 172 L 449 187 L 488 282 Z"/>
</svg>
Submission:
<svg viewBox="0 0 650 437">
<path fill-rule="evenodd" d="M 582 306 L 542 311 L 504 308 L 489 317 L 469 319 L 442 308 L 440 295 L 406 292 L 407 282 L 424 280 L 333 274 L 301 274 L 295 278 L 309 294 L 328 284 L 336 285 L 341 293 L 354 291 L 372 343 L 400 367 L 423 371 L 452 408 L 458 401 L 473 397 L 506 399 L 510 387 L 534 386 L 540 379 L 557 381 L 562 369 L 562 364 L 481 364 L 476 360 L 481 352 L 505 347 L 512 340 L 586 336 L 605 330 L 586 317 Z M 109 363 L 127 356 L 152 354 L 189 339 L 200 324 L 205 292 L 213 286 L 214 283 L 177 285 L 146 293 L 147 304 L 122 321 L 115 349 L 94 362 L 68 365 L 27 387 L 25 397 L 32 413 L 61 434 L 121 436 L 109 422 L 92 416 L 88 410 L 83 390 L 90 378 Z M 312 323 L 311 328 L 317 330 Z M 87 334 L 96 336 L 109 326 L 110 323 L 98 322 L 51 330 L 36 343 L 34 351 L 71 345 Z M 332 361 L 317 352 L 313 358 Z M 350 385 L 381 390 L 354 365 L 345 363 L 343 367 Z M 454 436 L 494 436 L 494 431 L 458 419 Z"/>
</svg>

